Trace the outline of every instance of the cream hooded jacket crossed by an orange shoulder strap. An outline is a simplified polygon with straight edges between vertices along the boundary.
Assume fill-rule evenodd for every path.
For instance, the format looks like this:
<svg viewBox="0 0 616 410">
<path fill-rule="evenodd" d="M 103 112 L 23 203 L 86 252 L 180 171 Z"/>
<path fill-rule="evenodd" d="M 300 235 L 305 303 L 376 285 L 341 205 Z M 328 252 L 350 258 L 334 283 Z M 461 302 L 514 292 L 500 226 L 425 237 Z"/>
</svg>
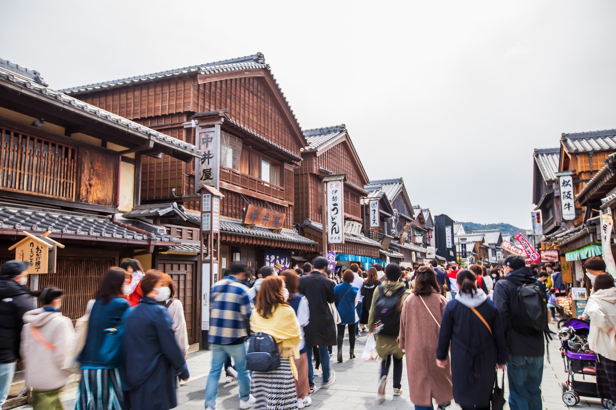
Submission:
<svg viewBox="0 0 616 410">
<path fill-rule="evenodd" d="M 43 339 L 55 348 L 37 342 L 31 326 L 36 326 Z M 47 312 L 44 308 L 24 313 L 20 353 L 25 360 L 26 386 L 46 392 L 66 385 L 71 374 L 63 371 L 62 365 L 74 342 L 73 323 L 62 313 Z"/>
</svg>

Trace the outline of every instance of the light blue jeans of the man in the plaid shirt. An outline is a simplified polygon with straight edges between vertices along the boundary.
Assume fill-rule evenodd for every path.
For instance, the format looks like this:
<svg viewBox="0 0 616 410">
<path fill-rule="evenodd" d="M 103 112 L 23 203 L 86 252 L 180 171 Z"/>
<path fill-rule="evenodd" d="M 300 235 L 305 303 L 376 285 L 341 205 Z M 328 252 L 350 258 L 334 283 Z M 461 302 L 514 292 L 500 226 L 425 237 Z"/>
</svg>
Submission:
<svg viewBox="0 0 616 410">
<path fill-rule="evenodd" d="M 240 400 L 246 401 L 250 396 L 250 376 L 246 370 L 246 345 L 211 345 L 212 368 L 205 386 L 205 408 L 216 407 L 218 380 L 221 378 L 222 366 L 228 357 L 233 358 L 237 370 L 237 384 L 240 385 Z"/>
</svg>

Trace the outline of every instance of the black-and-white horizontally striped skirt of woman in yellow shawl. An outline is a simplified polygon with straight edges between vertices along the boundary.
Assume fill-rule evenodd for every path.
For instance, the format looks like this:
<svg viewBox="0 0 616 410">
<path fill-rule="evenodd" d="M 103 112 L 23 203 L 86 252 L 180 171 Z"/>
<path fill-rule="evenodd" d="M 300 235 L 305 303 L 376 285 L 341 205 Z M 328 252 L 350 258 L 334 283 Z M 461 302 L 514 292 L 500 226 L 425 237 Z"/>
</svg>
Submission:
<svg viewBox="0 0 616 410">
<path fill-rule="evenodd" d="M 271 372 L 253 372 L 251 390 L 257 403 L 255 410 L 293 410 L 298 408 L 298 395 L 287 359 Z"/>
</svg>

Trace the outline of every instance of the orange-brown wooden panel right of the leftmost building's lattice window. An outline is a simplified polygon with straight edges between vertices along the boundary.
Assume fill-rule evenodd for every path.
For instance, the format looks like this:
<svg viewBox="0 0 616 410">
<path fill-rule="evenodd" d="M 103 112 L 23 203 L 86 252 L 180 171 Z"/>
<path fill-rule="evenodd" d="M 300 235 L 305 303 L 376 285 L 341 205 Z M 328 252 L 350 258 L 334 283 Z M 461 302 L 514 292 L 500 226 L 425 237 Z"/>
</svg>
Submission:
<svg viewBox="0 0 616 410">
<path fill-rule="evenodd" d="M 115 206 L 118 158 L 79 149 L 79 199 L 97 205 Z"/>
</svg>

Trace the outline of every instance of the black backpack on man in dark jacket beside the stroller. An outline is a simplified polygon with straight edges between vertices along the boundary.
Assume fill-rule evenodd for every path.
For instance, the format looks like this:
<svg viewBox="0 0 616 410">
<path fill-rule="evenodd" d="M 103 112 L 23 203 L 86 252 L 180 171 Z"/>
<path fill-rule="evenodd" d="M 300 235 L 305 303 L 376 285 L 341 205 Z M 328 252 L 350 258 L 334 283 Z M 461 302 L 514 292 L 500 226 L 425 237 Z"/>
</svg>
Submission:
<svg viewBox="0 0 616 410">
<path fill-rule="evenodd" d="M 519 334 L 537 336 L 548 326 L 548 305 L 545 292 L 536 283 L 522 284 L 505 276 L 517 285 L 515 297 L 517 309 L 511 314 L 514 331 Z"/>
</svg>

